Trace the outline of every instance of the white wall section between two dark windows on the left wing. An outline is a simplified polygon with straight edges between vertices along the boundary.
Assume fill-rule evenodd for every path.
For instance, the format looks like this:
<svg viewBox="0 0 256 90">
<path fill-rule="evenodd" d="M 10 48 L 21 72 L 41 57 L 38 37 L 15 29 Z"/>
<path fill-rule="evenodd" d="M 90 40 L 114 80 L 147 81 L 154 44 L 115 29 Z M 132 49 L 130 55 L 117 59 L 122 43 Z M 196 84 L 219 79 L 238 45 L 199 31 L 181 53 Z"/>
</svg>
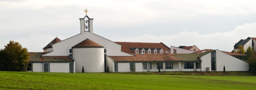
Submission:
<svg viewBox="0 0 256 90">
<path fill-rule="evenodd" d="M 69 73 L 69 63 L 50 63 L 50 72 Z"/>
</svg>

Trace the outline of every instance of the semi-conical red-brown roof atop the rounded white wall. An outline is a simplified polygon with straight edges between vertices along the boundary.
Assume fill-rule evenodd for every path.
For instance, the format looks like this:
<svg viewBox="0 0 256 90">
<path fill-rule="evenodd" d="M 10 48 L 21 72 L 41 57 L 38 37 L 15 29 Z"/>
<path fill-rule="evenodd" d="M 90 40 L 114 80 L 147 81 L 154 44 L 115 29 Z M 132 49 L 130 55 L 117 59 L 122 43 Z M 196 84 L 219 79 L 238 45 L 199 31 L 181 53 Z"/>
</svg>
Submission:
<svg viewBox="0 0 256 90">
<path fill-rule="evenodd" d="M 90 47 L 100 47 L 103 48 L 103 46 L 93 42 L 90 39 L 85 39 L 84 41 L 76 44 L 75 46 L 73 46 L 72 48 L 90 48 Z"/>
</svg>

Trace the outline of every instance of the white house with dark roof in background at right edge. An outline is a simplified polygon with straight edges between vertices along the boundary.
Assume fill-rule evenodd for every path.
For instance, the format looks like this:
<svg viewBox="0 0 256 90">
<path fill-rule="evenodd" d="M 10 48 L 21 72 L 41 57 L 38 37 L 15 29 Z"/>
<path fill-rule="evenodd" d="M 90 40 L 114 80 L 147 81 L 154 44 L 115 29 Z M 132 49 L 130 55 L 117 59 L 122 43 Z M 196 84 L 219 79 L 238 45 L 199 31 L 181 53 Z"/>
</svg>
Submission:
<svg viewBox="0 0 256 90">
<path fill-rule="evenodd" d="M 247 39 L 241 39 L 234 45 L 234 51 L 237 51 L 238 46 L 243 46 L 244 51 L 247 51 L 247 48 L 250 46 L 252 50 L 256 50 L 256 38 L 248 37 Z"/>
</svg>

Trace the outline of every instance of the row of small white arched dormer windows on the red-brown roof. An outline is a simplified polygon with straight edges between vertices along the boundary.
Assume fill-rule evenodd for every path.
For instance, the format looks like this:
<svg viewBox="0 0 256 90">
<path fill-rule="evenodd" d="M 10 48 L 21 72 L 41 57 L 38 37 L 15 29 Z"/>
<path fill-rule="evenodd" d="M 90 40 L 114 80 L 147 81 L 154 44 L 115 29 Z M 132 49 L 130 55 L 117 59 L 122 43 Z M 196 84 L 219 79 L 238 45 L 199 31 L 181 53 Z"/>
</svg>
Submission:
<svg viewBox="0 0 256 90">
<path fill-rule="evenodd" d="M 134 53 L 164 53 L 162 48 L 130 48 L 130 50 L 132 50 Z"/>
</svg>

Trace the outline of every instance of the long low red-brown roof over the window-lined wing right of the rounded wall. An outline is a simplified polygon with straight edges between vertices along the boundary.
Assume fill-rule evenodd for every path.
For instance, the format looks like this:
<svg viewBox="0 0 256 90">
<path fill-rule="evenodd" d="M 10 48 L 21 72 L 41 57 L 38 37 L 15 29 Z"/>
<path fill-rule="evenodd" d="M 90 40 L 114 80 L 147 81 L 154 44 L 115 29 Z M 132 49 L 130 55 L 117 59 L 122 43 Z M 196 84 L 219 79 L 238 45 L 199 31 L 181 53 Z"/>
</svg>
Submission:
<svg viewBox="0 0 256 90">
<path fill-rule="evenodd" d="M 135 54 L 133 53 L 132 55 L 135 56 L 109 56 L 114 62 L 137 62 L 137 61 L 142 61 L 142 62 L 159 62 L 159 61 L 170 61 L 170 62 L 175 62 L 175 61 L 183 61 L 183 62 L 190 62 L 190 61 L 196 61 L 196 62 L 201 62 L 197 57 L 200 54 L 147 54 L 145 53 L 144 55 L 140 54 Z"/>
</svg>

